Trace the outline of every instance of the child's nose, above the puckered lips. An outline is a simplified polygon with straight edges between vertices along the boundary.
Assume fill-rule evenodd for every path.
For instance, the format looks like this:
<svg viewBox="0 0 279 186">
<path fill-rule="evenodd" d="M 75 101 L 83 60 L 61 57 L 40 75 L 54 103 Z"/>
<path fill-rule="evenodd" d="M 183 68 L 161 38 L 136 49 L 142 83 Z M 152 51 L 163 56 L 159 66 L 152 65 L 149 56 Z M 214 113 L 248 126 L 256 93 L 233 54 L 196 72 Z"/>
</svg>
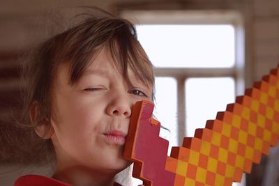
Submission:
<svg viewBox="0 0 279 186">
<path fill-rule="evenodd" d="M 126 96 L 118 96 L 107 106 L 107 114 L 128 118 L 132 112 L 131 105 Z"/>
</svg>

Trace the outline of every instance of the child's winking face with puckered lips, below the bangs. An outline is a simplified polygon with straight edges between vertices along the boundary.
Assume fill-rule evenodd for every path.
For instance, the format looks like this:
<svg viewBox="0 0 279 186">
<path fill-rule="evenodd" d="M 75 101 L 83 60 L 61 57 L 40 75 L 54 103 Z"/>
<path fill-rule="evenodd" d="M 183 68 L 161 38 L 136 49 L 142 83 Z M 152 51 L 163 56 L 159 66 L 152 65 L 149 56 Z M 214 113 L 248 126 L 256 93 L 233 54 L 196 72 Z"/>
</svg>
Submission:
<svg viewBox="0 0 279 186">
<path fill-rule="evenodd" d="M 133 104 L 151 100 L 152 88 L 128 72 L 133 85 L 113 65 L 103 49 L 73 85 L 69 68 L 59 65 L 52 88 L 52 142 L 57 169 L 81 167 L 118 172 L 128 166 L 123 146 Z"/>
</svg>

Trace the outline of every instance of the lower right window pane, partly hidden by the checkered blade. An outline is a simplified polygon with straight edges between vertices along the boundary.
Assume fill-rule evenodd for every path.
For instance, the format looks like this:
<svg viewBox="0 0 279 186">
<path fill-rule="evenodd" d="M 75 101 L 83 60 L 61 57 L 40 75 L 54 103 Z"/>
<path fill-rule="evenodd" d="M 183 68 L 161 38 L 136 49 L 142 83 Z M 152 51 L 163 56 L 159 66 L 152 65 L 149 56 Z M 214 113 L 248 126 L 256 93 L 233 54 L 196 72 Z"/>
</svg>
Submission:
<svg viewBox="0 0 279 186">
<path fill-rule="evenodd" d="M 218 111 L 225 111 L 234 102 L 234 79 L 190 78 L 186 81 L 186 134 L 193 137 L 196 128 L 204 128 L 206 121 L 215 119 Z"/>
</svg>

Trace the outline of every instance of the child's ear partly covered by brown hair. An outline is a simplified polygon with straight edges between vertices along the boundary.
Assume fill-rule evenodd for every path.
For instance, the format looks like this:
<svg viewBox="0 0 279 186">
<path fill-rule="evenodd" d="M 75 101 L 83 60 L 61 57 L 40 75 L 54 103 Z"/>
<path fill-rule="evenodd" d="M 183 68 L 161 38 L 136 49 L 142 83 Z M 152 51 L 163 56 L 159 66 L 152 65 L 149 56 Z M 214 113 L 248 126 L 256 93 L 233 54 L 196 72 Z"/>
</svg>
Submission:
<svg viewBox="0 0 279 186">
<path fill-rule="evenodd" d="M 31 122 L 35 124 L 34 130 L 36 134 L 43 139 L 50 139 L 54 134 L 54 128 L 52 127 L 50 121 L 45 118 L 43 123 L 36 126 L 36 118 L 40 115 L 39 107 L 40 104 L 37 101 L 32 103 L 29 109 L 29 118 Z"/>
</svg>

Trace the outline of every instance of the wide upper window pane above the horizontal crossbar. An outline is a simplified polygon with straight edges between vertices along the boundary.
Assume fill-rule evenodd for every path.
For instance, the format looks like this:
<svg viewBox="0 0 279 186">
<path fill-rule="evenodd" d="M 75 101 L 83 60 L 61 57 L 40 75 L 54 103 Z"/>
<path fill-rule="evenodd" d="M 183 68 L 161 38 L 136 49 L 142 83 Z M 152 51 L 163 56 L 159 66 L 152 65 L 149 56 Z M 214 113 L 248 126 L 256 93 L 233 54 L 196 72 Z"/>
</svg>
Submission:
<svg viewBox="0 0 279 186">
<path fill-rule="evenodd" d="M 138 39 L 162 68 L 229 68 L 234 65 L 234 26 L 140 25 Z"/>
</svg>

